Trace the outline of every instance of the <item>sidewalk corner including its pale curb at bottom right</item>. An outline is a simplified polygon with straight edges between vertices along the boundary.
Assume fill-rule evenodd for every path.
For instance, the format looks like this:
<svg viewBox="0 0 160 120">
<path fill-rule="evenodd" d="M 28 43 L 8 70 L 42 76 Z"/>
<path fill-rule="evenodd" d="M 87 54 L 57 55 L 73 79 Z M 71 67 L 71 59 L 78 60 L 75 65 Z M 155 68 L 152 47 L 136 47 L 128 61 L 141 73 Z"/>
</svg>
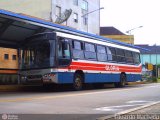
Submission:
<svg viewBox="0 0 160 120">
<path fill-rule="evenodd" d="M 115 115 L 97 118 L 97 120 L 160 120 L 160 101 L 150 105 L 126 110 Z"/>
</svg>

